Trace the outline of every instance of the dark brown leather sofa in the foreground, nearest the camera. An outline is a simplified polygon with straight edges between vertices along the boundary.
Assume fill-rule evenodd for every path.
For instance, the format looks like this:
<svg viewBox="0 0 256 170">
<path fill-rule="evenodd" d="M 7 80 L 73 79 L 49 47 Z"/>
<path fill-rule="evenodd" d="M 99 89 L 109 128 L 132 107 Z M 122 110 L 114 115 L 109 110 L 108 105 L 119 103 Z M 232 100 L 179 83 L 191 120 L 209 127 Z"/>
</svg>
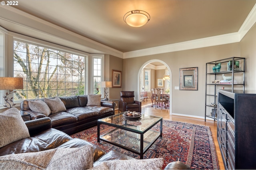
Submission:
<svg viewBox="0 0 256 170">
<path fill-rule="evenodd" d="M 51 119 L 49 117 L 26 121 L 25 124 L 28 127 L 30 137 L 3 146 L 0 148 L 0 156 L 39 152 L 54 148 L 80 148 L 90 144 L 93 147 L 94 166 L 108 160 L 134 159 L 114 150 L 106 153 L 95 144 L 82 139 L 72 138 L 68 134 L 52 128 Z M 13 169 L 15 169 L 15 167 Z M 189 167 L 180 161 L 176 161 L 169 163 L 165 169 L 189 169 Z"/>
</svg>

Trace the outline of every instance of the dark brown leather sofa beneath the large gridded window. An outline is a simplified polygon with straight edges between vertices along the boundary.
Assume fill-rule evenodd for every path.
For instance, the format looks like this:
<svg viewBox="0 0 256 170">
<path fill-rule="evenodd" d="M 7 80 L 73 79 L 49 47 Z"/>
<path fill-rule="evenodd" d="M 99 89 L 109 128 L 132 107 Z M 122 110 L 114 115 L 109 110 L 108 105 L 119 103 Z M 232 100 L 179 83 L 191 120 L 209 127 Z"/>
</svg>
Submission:
<svg viewBox="0 0 256 170">
<path fill-rule="evenodd" d="M 50 114 L 52 128 L 61 130 L 67 134 L 80 131 L 97 124 L 97 120 L 114 115 L 115 103 L 101 101 L 101 106 L 86 106 L 87 95 L 59 97 L 66 107 L 65 112 Z M 53 98 L 50 98 L 53 99 Z M 36 99 L 31 99 L 36 100 Z M 39 99 L 44 101 L 44 99 Z M 31 115 L 31 119 L 40 119 L 46 115 L 30 110 L 29 100 L 20 103 L 20 110 Z"/>
</svg>

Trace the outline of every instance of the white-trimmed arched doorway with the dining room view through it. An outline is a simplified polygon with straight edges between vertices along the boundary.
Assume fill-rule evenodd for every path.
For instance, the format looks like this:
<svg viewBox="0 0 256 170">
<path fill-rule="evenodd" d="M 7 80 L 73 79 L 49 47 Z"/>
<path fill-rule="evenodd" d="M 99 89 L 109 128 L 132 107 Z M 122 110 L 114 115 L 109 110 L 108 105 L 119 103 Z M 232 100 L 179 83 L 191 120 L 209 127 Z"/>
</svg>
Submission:
<svg viewBox="0 0 256 170">
<path fill-rule="evenodd" d="M 159 59 L 147 61 L 140 68 L 138 82 L 138 99 L 142 101 L 142 105 L 146 101 L 154 105 L 151 89 L 161 88 L 164 89 L 164 94 L 170 96 L 168 106 L 169 113 L 172 113 L 172 72 L 167 63 Z"/>
</svg>

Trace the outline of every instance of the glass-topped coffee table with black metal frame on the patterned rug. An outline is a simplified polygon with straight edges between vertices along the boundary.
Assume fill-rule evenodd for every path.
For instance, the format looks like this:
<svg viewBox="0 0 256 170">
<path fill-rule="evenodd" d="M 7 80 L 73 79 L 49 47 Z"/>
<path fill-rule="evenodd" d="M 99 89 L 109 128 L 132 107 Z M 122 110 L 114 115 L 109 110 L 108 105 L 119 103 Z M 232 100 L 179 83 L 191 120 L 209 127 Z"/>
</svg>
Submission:
<svg viewBox="0 0 256 170">
<path fill-rule="evenodd" d="M 139 154 L 140 159 L 143 159 L 143 154 L 158 137 L 162 137 L 163 119 L 158 116 L 142 114 L 139 120 L 130 121 L 126 120 L 123 114 L 124 112 L 98 120 L 97 142 L 103 140 L 114 146 Z M 159 122 L 159 131 L 152 130 L 152 127 Z M 105 134 L 100 134 L 101 124 L 113 128 L 110 128 L 109 132 Z"/>
</svg>

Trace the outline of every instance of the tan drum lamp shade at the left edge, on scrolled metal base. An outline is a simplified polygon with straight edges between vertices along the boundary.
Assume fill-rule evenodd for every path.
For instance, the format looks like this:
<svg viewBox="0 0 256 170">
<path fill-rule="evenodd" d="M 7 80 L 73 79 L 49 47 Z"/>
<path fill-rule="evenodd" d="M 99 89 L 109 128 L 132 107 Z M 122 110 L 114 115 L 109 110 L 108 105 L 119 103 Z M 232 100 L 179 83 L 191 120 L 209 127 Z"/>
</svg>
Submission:
<svg viewBox="0 0 256 170">
<path fill-rule="evenodd" d="M 23 89 L 22 77 L 0 77 L 0 90 Z"/>
</svg>

